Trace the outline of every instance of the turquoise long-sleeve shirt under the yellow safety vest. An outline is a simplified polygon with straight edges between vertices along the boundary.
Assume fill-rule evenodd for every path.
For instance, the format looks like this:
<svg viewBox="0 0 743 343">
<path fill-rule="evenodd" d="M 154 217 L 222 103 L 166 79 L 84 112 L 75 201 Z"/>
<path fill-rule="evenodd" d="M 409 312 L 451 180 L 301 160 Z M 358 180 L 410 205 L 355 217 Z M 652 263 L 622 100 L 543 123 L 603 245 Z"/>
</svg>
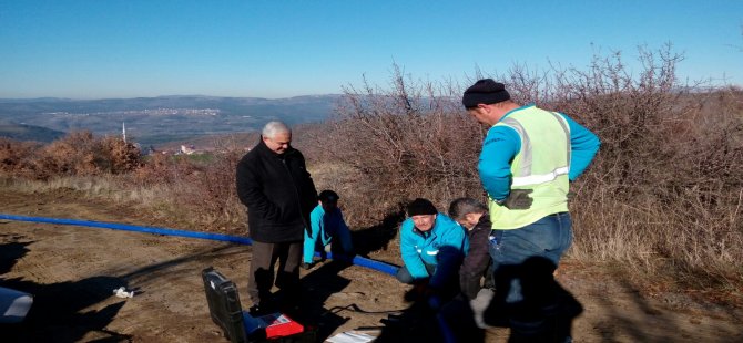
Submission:
<svg viewBox="0 0 743 343">
<path fill-rule="evenodd" d="M 533 105 L 521 106 L 508 112 L 501 121 L 511 113 Z M 568 178 L 577 179 L 593 159 L 601 142 L 592 132 L 569 116 L 558 113 L 568 122 L 570 127 L 570 172 Z M 521 149 L 521 138 L 516 129 L 508 126 L 492 126 L 482 143 L 478 172 L 482 187 L 488 195 L 502 200 L 508 197 L 511 186 L 511 162 Z"/>
</svg>

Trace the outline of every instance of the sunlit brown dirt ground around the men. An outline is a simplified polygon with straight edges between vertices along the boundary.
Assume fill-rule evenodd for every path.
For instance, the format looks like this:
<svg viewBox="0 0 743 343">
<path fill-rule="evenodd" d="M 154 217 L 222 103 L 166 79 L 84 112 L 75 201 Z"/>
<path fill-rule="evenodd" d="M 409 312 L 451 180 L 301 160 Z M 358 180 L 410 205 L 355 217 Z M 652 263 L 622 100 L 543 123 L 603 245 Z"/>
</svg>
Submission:
<svg viewBox="0 0 743 343">
<path fill-rule="evenodd" d="M 162 226 L 130 208 L 75 199 L 64 191 L 0 189 L 0 214 Z M 232 243 L 75 226 L 0 220 L 0 285 L 34 295 L 27 320 L 0 326 L 16 342 L 226 342 L 211 321 L 201 270 L 213 266 L 240 287 L 247 306 L 251 248 Z M 360 326 L 383 326 L 405 309 L 407 287 L 360 267 L 324 262 L 303 271 L 303 321 L 318 341 Z M 570 260 L 559 282 L 583 305 L 576 342 L 743 342 L 743 311 L 683 293 L 644 293 L 621 274 Z M 120 299 L 112 290 L 138 290 Z M 505 342 L 493 329 L 488 342 Z M 401 342 L 415 342 L 400 337 Z"/>
</svg>

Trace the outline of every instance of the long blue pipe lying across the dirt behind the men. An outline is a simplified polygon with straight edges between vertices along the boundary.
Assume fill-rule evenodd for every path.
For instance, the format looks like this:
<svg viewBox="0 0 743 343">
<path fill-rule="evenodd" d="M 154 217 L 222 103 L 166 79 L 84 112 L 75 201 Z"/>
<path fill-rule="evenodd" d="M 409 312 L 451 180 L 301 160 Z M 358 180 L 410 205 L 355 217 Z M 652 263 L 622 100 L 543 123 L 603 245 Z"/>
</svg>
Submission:
<svg viewBox="0 0 743 343">
<path fill-rule="evenodd" d="M 141 227 L 133 225 L 115 224 L 115 222 L 103 222 L 103 221 L 91 221 L 91 220 L 77 220 L 77 219 L 63 219 L 63 218 L 44 218 L 44 217 L 27 217 L 27 216 L 14 216 L 14 215 L 4 215 L 0 214 L 0 219 L 17 220 L 17 221 L 31 221 L 31 222 L 45 222 L 45 224 L 58 224 L 58 225 L 73 225 L 73 226 L 83 226 L 92 228 L 104 228 L 112 230 L 122 230 L 122 231 L 135 231 L 135 232 L 145 232 L 153 235 L 164 235 L 164 236 L 176 236 L 176 237 L 186 237 L 186 238 L 197 238 L 197 239 L 207 239 L 207 240 L 217 240 L 226 241 L 240 245 L 250 246 L 253 243 L 253 240 L 246 237 L 237 237 L 230 235 L 221 233 L 210 233 L 210 232 L 196 232 L 196 231 L 186 231 L 186 230 L 175 230 L 167 228 L 157 228 L 157 227 Z M 315 252 L 315 256 L 319 256 L 319 252 Z M 327 253 L 328 259 L 333 259 L 333 253 Z M 363 257 L 354 257 L 353 259 L 346 256 L 337 254 L 336 259 L 350 261 L 352 263 L 374 269 L 386 274 L 396 276 L 399 267 L 388 264 L 381 261 L 376 261 Z"/>
</svg>

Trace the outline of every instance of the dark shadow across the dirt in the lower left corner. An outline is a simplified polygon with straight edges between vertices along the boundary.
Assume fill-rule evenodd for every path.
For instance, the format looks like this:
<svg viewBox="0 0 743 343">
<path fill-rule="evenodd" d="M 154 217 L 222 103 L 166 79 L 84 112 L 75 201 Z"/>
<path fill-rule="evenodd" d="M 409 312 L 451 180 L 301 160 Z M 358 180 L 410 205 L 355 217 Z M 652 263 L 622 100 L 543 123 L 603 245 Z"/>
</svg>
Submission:
<svg viewBox="0 0 743 343">
<path fill-rule="evenodd" d="M 27 241 L 22 236 L 0 237 L 6 240 L 0 245 L 0 287 L 33 295 L 33 305 L 23 322 L 0 324 L 1 342 L 79 342 L 91 339 L 95 342 L 131 342 L 134 339 L 131 335 L 105 329 L 125 304 L 124 299 L 116 301 L 112 298 L 112 290 L 120 287 L 130 289 L 131 280 L 142 285 L 170 274 L 182 274 L 183 271 L 176 267 L 190 261 L 210 261 L 244 251 L 243 247 L 224 245 L 129 272 L 114 267 L 103 276 L 41 284 L 2 277 L 29 252 L 28 246 L 33 241 Z"/>
</svg>

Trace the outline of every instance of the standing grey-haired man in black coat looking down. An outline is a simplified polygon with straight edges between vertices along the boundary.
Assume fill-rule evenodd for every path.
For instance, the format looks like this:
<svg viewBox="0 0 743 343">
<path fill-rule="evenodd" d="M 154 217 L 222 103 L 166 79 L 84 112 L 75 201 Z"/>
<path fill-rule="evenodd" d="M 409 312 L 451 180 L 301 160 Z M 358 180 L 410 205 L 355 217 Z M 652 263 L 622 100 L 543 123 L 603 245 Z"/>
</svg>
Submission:
<svg viewBox="0 0 743 343">
<path fill-rule="evenodd" d="M 281 305 L 298 305 L 304 230 L 311 229 L 309 212 L 317 205 L 317 190 L 304 156 L 291 143 L 288 126 L 269 122 L 263 127 L 258 145 L 237 164 L 237 196 L 247 207 L 248 235 L 253 239 L 247 284 L 253 314 L 277 310 L 278 304 L 271 299 L 276 261 Z"/>
</svg>

